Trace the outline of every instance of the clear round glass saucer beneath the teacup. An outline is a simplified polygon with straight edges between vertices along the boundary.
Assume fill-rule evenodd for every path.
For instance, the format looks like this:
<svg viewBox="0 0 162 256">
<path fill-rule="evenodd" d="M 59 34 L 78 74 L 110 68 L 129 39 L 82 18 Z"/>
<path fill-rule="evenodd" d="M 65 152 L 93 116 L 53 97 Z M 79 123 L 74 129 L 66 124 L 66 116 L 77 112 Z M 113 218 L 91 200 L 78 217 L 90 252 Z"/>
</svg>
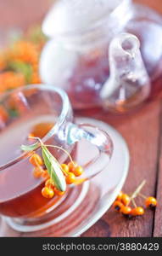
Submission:
<svg viewBox="0 0 162 256">
<path fill-rule="evenodd" d="M 80 236 L 95 224 L 109 209 L 125 183 L 129 169 L 129 151 L 123 137 L 113 127 L 96 119 L 77 118 L 76 123 L 88 123 L 107 131 L 114 143 L 114 154 L 109 163 L 91 180 L 71 187 L 43 218 L 1 218 L 0 236 Z M 91 152 L 91 154 L 89 154 Z M 76 159 L 85 166 L 95 156 L 95 147 L 87 141 L 78 143 Z"/>
</svg>

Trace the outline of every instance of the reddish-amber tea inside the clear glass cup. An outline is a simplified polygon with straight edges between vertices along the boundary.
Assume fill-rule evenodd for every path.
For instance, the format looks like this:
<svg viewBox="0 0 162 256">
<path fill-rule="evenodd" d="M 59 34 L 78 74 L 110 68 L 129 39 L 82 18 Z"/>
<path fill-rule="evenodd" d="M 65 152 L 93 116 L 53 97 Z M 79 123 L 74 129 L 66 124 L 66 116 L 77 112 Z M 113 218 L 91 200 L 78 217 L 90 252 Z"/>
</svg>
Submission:
<svg viewBox="0 0 162 256">
<path fill-rule="evenodd" d="M 51 117 L 42 116 L 9 125 L 0 132 L 0 166 L 20 156 L 20 145 L 26 144 L 29 133 L 43 137 L 53 126 Z M 29 159 L 20 160 L 0 171 L 0 213 L 10 217 L 34 218 L 59 201 L 60 197 L 46 199 L 41 190 L 44 180 L 33 176 Z"/>
</svg>

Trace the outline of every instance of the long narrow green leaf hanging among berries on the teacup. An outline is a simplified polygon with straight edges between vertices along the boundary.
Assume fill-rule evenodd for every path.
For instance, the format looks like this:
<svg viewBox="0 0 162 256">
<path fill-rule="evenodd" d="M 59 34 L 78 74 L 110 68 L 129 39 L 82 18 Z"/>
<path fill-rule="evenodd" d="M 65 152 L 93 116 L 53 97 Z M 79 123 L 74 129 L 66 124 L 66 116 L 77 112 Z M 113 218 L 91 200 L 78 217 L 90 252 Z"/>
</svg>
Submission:
<svg viewBox="0 0 162 256">
<path fill-rule="evenodd" d="M 42 157 L 47 168 L 49 176 L 53 179 L 53 183 L 59 191 L 66 190 L 66 182 L 64 174 L 59 166 L 58 161 L 49 152 L 46 146 L 42 145 Z"/>
</svg>

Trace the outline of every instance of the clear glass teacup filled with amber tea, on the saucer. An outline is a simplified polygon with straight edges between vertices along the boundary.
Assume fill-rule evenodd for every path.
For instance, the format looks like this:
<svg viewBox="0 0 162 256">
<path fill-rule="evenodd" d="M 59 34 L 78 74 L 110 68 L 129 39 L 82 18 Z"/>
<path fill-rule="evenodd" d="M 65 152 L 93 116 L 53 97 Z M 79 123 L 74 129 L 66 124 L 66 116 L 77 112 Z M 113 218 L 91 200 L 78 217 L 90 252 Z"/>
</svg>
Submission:
<svg viewBox="0 0 162 256">
<path fill-rule="evenodd" d="M 32 136 L 58 147 L 48 149 L 60 164 L 69 158 L 64 150 L 75 159 L 77 142 L 86 139 L 92 143 L 98 154 L 83 166 L 85 172 L 78 180 L 84 183 L 108 165 L 113 152 L 112 140 L 105 131 L 92 125 L 75 124 L 69 98 L 63 90 L 36 84 L 3 94 L 0 98 L 0 213 L 15 230 L 21 231 L 47 227 L 53 212 L 58 208 L 61 212 L 60 206 L 64 205 L 71 187 L 76 187 L 76 184 L 68 185 L 63 196 L 56 195 L 53 199 L 42 196 L 45 178 L 34 177 L 29 161 L 31 154 L 20 148 L 22 144 L 34 143 Z M 40 147 L 35 151 L 41 154 Z M 32 228 L 28 227 L 29 223 Z"/>
</svg>

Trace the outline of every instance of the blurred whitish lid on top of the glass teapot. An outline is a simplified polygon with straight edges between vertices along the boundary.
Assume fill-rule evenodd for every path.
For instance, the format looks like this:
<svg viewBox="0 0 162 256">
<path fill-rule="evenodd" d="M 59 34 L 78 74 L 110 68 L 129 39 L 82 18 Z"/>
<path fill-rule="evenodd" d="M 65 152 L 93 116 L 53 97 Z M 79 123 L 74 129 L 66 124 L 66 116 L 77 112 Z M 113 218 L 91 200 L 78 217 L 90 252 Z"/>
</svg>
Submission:
<svg viewBox="0 0 162 256">
<path fill-rule="evenodd" d="M 126 0 L 59 0 L 53 4 L 42 23 L 48 37 L 91 29 Z"/>
</svg>

